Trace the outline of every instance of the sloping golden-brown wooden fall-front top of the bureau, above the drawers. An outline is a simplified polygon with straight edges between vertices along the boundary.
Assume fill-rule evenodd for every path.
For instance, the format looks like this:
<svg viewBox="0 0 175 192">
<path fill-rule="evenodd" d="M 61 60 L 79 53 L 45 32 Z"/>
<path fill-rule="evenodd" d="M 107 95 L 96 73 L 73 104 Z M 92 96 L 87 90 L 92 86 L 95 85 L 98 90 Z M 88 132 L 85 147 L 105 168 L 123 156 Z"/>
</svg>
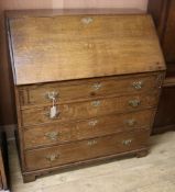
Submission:
<svg viewBox="0 0 175 192">
<path fill-rule="evenodd" d="M 147 14 L 66 14 L 8 20 L 15 84 L 165 70 Z"/>
</svg>

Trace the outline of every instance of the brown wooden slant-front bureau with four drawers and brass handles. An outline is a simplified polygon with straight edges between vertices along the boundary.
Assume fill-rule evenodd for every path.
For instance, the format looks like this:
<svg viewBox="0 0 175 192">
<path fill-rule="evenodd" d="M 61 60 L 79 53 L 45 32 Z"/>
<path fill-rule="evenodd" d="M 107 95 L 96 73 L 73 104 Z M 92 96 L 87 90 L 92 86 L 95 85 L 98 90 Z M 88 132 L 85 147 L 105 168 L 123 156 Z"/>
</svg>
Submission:
<svg viewBox="0 0 175 192">
<path fill-rule="evenodd" d="M 24 13 L 7 14 L 24 182 L 145 156 L 165 76 L 151 16 Z"/>
</svg>

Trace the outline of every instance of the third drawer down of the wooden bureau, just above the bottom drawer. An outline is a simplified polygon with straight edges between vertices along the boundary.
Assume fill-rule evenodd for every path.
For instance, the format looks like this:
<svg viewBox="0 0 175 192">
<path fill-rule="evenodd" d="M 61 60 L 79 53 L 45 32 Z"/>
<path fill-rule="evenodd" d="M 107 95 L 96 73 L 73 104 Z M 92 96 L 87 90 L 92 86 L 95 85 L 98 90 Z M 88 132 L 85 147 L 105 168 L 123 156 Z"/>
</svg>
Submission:
<svg viewBox="0 0 175 192">
<path fill-rule="evenodd" d="M 44 145 L 63 144 L 113 133 L 150 128 L 154 110 L 145 110 L 128 114 L 95 117 L 67 124 L 51 124 L 23 129 L 24 148 L 42 147 Z"/>
</svg>

